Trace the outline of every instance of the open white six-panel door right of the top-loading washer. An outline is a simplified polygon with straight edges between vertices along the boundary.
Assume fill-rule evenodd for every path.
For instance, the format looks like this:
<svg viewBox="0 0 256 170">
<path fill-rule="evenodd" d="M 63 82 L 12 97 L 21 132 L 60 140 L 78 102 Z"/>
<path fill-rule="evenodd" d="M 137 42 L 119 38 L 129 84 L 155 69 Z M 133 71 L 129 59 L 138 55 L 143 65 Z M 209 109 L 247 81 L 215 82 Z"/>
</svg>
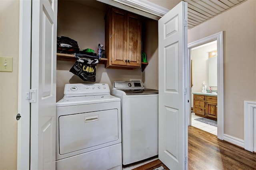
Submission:
<svg viewBox="0 0 256 170">
<path fill-rule="evenodd" d="M 187 169 L 188 132 L 185 122 L 187 3 L 180 2 L 158 21 L 159 159 L 170 169 Z M 186 84 L 185 84 L 186 83 Z"/>
</svg>

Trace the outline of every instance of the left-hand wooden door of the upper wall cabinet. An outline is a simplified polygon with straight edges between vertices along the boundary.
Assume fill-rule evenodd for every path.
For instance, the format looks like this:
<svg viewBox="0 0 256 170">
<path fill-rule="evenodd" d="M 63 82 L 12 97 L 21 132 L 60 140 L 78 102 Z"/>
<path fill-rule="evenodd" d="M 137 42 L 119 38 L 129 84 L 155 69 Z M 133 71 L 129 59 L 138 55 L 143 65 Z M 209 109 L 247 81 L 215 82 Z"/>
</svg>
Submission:
<svg viewBox="0 0 256 170">
<path fill-rule="evenodd" d="M 126 12 L 112 8 L 111 17 L 111 63 L 113 65 L 126 65 L 127 47 L 127 14 Z"/>
</svg>

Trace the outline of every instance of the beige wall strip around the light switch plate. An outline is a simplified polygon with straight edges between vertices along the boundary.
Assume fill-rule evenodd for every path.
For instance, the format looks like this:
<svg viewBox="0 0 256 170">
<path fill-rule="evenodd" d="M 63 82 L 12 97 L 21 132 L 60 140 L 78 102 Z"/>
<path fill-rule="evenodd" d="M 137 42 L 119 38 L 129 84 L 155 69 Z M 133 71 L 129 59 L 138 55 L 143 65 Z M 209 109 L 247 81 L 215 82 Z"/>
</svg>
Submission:
<svg viewBox="0 0 256 170">
<path fill-rule="evenodd" d="M 0 169 L 16 169 L 19 1 L 0 0 L 0 56 L 13 57 L 13 72 L 0 72 Z"/>
</svg>

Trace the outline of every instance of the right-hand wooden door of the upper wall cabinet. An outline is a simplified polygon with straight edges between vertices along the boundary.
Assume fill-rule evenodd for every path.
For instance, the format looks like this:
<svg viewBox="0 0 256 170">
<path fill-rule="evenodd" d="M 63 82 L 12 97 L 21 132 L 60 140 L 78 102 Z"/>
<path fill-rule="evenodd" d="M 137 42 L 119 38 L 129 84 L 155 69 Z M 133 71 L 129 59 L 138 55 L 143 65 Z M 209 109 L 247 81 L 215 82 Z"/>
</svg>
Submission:
<svg viewBox="0 0 256 170">
<path fill-rule="evenodd" d="M 127 66 L 140 67 L 141 25 L 140 16 L 127 13 Z"/>
</svg>

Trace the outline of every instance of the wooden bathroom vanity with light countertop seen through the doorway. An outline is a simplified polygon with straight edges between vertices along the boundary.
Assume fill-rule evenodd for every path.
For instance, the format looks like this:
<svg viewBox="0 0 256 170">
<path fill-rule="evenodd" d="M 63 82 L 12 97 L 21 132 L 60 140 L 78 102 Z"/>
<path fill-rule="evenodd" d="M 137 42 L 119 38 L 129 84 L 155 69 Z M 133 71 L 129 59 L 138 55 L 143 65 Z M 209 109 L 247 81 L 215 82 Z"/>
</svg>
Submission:
<svg viewBox="0 0 256 170">
<path fill-rule="evenodd" d="M 196 115 L 217 120 L 217 94 L 193 93 L 193 111 Z"/>
</svg>

